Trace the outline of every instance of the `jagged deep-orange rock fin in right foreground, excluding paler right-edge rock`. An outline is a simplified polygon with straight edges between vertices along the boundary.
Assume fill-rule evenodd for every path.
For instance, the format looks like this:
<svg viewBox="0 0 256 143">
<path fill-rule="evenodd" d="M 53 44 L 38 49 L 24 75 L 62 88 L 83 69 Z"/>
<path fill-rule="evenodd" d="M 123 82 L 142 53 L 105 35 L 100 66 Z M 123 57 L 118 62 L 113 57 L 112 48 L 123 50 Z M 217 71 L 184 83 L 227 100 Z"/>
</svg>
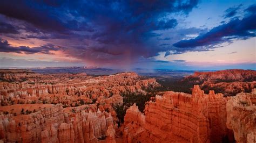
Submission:
<svg viewBox="0 0 256 143">
<path fill-rule="evenodd" d="M 192 95 L 167 91 L 149 102 L 145 115 L 136 105 L 125 115 L 126 142 L 221 142 L 226 127 L 226 98 L 223 94 L 204 94 L 195 85 Z M 227 137 L 228 138 L 228 137 Z M 232 138 L 230 138 L 232 140 Z"/>
</svg>

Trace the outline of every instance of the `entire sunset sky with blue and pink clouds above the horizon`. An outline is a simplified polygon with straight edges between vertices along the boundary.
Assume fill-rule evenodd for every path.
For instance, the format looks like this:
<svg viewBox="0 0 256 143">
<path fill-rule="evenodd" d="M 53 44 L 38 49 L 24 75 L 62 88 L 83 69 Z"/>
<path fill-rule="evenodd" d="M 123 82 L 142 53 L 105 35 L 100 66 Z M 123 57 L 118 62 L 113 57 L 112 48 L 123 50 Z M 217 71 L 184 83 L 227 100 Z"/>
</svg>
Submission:
<svg viewBox="0 0 256 143">
<path fill-rule="evenodd" d="M 1 1 L 0 68 L 256 70 L 254 0 Z"/>
</svg>

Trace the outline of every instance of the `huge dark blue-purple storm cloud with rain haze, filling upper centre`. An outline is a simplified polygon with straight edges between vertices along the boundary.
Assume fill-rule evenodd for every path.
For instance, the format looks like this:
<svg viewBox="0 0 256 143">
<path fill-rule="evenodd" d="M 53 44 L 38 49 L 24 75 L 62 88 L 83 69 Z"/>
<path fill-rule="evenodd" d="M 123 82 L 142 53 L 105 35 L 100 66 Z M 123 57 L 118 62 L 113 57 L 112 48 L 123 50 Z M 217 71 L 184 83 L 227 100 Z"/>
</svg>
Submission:
<svg viewBox="0 0 256 143">
<path fill-rule="evenodd" d="M 64 39 L 64 53 L 85 62 L 127 63 L 126 61 L 133 62 L 142 56 L 149 58 L 156 56 L 158 52 L 166 51 L 166 47 L 159 46 L 152 40 L 161 36 L 156 31 L 170 30 L 178 25 L 176 19 L 166 17 L 169 13 L 187 15 L 197 4 L 198 0 L 17 0 L 2 1 L 0 13 L 7 17 L 6 21 L 11 23 L 10 27 L 25 31 L 22 35 L 9 36 L 17 39 Z M 17 20 L 20 24 L 17 24 Z M 31 51 L 28 47 L 18 49 L 14 51 Z"/>
</svg>

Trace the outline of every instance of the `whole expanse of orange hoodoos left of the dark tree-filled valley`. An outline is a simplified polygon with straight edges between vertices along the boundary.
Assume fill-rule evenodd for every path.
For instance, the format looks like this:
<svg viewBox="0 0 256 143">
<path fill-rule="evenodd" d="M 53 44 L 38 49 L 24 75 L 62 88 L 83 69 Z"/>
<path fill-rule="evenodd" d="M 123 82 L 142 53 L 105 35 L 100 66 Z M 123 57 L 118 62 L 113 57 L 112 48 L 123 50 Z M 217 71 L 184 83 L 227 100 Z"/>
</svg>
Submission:
<svg viewBox="0 0 256 143">
<path fill-rule="evenodd" d="M 136 73 L 109 76 L 42 75 L 1 70 L 0 140 L 4 142 L 116 141 L 122 92 L 157 87 Z"/>
</svg>

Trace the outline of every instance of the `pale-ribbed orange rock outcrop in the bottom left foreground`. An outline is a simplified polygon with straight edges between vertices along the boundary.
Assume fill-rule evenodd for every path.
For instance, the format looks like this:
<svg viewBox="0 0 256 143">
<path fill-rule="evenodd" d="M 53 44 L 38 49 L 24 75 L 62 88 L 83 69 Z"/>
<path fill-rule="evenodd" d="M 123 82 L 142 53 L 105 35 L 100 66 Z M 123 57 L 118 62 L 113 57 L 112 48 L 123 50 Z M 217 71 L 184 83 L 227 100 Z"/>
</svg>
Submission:
<svg viewBox="0 0 256 143">
<path fill-rule="evenodd" d="M 71 111 L 70 111 L 71 110 Z M 113 125 L 106 112 L 63 110 L 57 104 L 30 115 L 1 115 L 0 139 L 5 142 L 97 142 L 107 126 Z"/>
</svg>

